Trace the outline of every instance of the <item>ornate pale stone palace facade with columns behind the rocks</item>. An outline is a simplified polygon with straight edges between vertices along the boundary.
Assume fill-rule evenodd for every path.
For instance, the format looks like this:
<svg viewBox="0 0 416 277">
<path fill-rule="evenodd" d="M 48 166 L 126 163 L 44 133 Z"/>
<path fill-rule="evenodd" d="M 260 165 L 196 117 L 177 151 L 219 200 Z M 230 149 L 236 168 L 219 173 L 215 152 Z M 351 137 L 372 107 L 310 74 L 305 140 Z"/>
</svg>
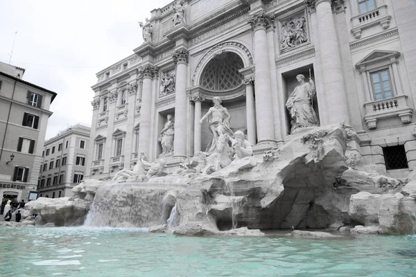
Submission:
<svg viewBox="0 0 416 277">
<path fill-rule="evenodd" d="M 207 149 L 210 121 L 200 119 L 219 96 L 227 125 L 246 134 L 254 154 L 344 122 L 354 128 L 356 163 L 404 177 L 416 166 L 415 15 L 412 0 L 157 8 L 140 23 L 144 43 L 97 73 L 86 174 L 130 168 L 140 152 L 163 157 L 172 172 Z"/>
</svg>

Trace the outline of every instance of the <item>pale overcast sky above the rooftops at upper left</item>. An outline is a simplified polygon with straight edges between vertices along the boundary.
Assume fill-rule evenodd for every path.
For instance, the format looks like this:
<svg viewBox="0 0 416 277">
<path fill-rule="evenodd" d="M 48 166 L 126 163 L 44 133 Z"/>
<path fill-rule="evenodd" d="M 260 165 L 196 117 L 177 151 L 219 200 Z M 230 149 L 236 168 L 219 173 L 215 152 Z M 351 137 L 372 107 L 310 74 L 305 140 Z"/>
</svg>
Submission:
<svg viewBox="0 0 416 277">
<path fill-rule="evenodd" d="M 96 73 L 133 53 L 138 21 L 171 0 L 0 0 L 0 60 L 26 69 L 24 80 L 58 93 L 46 139 L 67 125 L 91 125 Z"/>
</svg>

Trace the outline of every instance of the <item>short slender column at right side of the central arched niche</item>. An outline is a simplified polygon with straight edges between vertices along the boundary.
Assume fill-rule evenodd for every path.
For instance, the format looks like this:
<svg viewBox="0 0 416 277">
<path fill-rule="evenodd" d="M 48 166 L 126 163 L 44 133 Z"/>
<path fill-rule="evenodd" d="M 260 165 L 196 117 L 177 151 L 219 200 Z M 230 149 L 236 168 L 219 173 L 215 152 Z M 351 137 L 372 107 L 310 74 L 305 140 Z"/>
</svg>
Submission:
<svg viewBox="0 0 416 277">
<path fill-rule="evenodd" d="M 251 145 L 256 145 L 257 134 L 256 134 L 256 107 L 254 105 L 254 92 L 253 84 L 254 80 L 252 77 L 244 79 L 245 84 L 245 109 L 247 114 L 247 137 Z"/>
</svg>

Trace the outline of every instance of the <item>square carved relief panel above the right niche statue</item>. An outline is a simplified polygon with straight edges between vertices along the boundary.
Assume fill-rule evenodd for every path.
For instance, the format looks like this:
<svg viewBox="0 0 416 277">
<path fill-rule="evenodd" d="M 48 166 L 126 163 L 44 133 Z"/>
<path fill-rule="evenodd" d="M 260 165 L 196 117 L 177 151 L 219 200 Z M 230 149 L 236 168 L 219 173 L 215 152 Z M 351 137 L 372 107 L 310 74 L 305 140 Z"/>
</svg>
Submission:
<svg viewBox="0 0 416 277">
<path fill-rule="evenodd" d="M 308 41 L 305 17 L 281 22 L 281 49 L 289 49 Z"/>
</svg>

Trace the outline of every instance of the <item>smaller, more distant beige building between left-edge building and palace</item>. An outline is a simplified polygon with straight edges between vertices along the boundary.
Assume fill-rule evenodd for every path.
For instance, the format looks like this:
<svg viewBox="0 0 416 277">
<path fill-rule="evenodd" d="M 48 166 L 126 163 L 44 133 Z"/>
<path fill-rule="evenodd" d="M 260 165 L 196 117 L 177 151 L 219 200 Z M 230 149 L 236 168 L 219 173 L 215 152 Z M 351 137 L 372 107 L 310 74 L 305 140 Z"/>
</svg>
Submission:
<svg viewBox="0 0 416 277">
<path fill-rule="evenodd" d="M 39 197 L 71 197 L 71 189 L 85 176 L 91 128 L 73 125 L 45 141 Z"/>
</svg>

